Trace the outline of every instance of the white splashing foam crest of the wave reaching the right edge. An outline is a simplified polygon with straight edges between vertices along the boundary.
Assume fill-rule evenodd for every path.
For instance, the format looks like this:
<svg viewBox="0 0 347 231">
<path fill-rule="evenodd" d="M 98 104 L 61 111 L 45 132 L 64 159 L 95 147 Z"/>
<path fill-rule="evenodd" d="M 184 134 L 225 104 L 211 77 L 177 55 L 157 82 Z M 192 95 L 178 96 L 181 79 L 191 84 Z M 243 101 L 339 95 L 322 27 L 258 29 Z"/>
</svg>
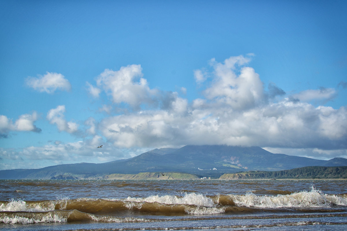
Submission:
<svg viewBox="0 0 347 231">
<path fill-rule="evenodd" d="M 290 195 L 257 196 L 252 192 L 246 195 L 229 195 L 236 205 L 259 208 L 281 207 L 331 207 L 332 204 L 347 205 L 347 199 L 336 195 L 323 194 L 313 186 L 311 191 L 303 191 Z"/>
</svg>

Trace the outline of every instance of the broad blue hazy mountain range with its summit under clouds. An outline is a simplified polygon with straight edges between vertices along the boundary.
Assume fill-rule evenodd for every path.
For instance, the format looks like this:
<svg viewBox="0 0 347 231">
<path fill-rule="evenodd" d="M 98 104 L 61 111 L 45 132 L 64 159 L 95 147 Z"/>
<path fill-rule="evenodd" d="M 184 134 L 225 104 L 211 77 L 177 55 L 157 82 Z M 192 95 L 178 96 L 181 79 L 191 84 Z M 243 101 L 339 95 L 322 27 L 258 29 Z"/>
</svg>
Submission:
<svg viewBox="0 0 347 231">
<path fill-rule="evenodd" d="M 0 179 L 78 178 L 139 172 L 185 172 L 199 177 L 220 177 L 245 170 L 279 171 L 306 166 L 347 166 L 347 159 L 316 160 L 274 154 L 260 147 L 186 145 L 180 149 L 154 149 L 139 156 L 106 163 L 76 163 L 40 169 L 1 170 Z"/>
</svg>

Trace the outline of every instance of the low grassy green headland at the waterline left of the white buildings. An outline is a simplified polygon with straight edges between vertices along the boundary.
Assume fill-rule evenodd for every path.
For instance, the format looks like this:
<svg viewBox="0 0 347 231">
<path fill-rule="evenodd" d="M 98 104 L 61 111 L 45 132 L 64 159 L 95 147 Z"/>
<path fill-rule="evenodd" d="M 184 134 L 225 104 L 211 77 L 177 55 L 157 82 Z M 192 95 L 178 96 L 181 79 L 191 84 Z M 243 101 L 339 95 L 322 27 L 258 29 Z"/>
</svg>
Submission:
<svg viewBox="0 0 347 231">
<path fill-rule="evenodd" d="M 197 179 L 197 176 L 183 172 L 140 172 L 139 174 L 109 174 L 103 177 L 109 180 L 167 180 Z"/>
</svg>

